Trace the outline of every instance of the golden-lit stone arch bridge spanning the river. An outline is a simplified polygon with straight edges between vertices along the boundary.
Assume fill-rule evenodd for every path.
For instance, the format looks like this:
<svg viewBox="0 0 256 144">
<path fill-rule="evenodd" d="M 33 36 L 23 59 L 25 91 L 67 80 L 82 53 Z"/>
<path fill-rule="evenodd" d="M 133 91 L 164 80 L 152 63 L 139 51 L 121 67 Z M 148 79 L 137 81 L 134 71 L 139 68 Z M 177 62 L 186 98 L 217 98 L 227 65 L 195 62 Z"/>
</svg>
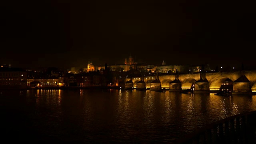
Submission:
<svg viewBox="0 0 256 144">
<path fill-rule="evenodd" d="M 133 87 L 138 88 L 137 83 L 144 81 L 146 88 L 169 88 L 170 90 L 184 90 L 192 88 L 195 91 L 220 90 L 222 83 L 230 79 L 234 91 L 256 91 L 256 71 L 236 71 L 236 72 L 209 72 L 175 74 L 164 76 L 144 76 L 125 78 L 124 82 L 132 81 Z M 142 86 L 143 87 L 143 86 Z M 250 89 L 250 90 L 249 90 Z"/>
</svg>

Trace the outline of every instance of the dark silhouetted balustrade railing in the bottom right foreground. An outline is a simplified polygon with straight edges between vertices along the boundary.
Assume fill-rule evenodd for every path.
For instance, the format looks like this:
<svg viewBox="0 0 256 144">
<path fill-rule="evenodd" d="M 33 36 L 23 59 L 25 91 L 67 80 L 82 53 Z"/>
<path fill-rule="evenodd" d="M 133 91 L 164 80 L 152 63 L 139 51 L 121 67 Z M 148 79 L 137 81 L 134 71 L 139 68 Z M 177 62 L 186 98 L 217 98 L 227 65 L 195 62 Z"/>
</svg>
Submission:
<svg viewBox="0 0 256 144">
<path fill-rule="evenodd" d="M 238 114 L 190 134 L 177 144 L 256 144 L 256 111 Z"/>
</svg>

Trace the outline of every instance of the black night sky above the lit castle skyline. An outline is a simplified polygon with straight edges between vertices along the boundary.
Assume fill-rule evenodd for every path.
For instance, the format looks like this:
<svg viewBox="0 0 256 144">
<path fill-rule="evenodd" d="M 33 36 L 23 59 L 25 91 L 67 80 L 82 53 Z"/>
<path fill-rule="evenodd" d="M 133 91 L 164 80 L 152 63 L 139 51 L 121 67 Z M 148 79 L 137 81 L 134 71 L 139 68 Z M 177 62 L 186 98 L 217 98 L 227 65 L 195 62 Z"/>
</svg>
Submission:
<svg viewBox="0 0 256 144">
<path fill-rule="evenodd" d="M 0 63 L 236 66 L 255 62 L 255 4 L 235 0 L 44 0 L 0 4 Z"/>
</svg>

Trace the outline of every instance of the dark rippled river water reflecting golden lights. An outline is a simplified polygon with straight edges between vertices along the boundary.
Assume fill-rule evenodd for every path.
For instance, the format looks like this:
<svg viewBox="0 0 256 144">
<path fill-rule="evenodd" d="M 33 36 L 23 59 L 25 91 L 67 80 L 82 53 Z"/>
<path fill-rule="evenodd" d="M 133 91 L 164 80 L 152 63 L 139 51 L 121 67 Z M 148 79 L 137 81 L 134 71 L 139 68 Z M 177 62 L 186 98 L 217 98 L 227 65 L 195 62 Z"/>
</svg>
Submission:
<svg viewBox="0 0 256 144">
<path fill-rule="evenodd" d="M 1 138 L 10 142 L 172 143 L 206 124 L 255 111 L 256 96 L 28 90 L 3 92 L 0 108 Z"/>
</svg>

